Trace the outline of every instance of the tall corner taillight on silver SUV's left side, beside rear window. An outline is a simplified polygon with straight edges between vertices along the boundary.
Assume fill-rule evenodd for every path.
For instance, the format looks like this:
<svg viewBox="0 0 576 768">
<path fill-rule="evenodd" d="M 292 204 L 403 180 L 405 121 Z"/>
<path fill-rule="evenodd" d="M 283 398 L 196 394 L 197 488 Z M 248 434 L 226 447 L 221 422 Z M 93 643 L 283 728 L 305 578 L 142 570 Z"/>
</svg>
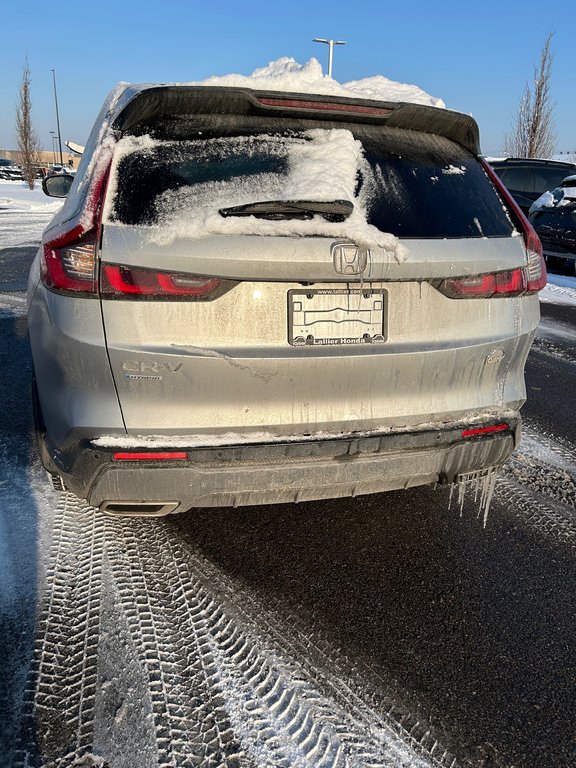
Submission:
<svg viewBox="0 0 576 768">
<path fill-rule="evenodd" d="M 40 279 L 51 291 L 76 296 L 98 294 L 98 242 L 109 173 L 110 160 L 102 164 L 90 183 L 79 223 L 42 246 Z"/>
</svg>

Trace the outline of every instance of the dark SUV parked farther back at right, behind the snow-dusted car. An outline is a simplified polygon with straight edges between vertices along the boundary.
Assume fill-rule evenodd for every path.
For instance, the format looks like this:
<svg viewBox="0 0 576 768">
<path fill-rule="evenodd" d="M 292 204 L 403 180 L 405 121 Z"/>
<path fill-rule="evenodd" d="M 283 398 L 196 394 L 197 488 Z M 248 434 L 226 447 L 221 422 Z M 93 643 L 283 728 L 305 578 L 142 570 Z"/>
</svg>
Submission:
<svg viewBox="0 0 576 768">
<path fill-rule="evenodd" d="M 507 157 L 489 162 L 526 215 L 543 192 L 554 189 L 565 176 L 576 173 L 574 163 L 556 160 Z"/>
</svg>

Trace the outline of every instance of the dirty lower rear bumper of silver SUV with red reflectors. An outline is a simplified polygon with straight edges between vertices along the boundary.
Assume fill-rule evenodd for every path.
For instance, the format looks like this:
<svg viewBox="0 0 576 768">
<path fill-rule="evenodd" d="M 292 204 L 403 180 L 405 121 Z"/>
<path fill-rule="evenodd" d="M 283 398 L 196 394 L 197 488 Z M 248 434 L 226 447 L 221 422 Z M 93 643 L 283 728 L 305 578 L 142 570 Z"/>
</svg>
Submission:
<svg viewBox="0 0 576 768">
<path fill-rule="evenodd" d="M 519 416 L 473 424 L 490 426 L 499 431 L 463 435 L 466 427 L 458 424 L 345 439 L 178 447 L 183 460 L 118 460 L 117 449 L 86 439 L 75 448 L 47 449 L 66 486 L 92 506 L 112 514 L 159 515 L 451 483 L 460 474 L 498 467 L 512 453 Z M 149 444 L 141 451 L 149 452 Z"/>
</svg>

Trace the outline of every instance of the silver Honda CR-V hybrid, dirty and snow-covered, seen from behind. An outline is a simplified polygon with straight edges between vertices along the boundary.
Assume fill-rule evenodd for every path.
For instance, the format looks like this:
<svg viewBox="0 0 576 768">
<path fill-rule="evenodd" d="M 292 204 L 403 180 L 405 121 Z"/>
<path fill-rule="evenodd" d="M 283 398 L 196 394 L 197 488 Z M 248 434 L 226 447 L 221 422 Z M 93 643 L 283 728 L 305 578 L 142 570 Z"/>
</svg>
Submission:
<svg viewBox="0 0 576 768">
<path fill-rule="evenodd" d="M 56 484 L 162 515 L 501 465 L 546 270 L 478 152 L 433 107 L 127 86 L 44 180 L 71 184 L 29 282 Z"/>
</svg>

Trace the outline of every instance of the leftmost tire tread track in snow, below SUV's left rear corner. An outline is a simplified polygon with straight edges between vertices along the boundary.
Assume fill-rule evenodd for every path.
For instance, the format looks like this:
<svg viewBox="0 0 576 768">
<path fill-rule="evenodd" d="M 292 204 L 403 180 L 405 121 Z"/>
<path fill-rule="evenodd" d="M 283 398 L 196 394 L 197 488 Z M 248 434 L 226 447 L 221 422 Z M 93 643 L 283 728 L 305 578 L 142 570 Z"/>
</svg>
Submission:
<svg viewBox="0 0 576 768">
<path fill-rule="evenodd" d="M 76 766 L 92 748 L 103 526 L 62 494 L 15 768 Z"/>
</svg>

